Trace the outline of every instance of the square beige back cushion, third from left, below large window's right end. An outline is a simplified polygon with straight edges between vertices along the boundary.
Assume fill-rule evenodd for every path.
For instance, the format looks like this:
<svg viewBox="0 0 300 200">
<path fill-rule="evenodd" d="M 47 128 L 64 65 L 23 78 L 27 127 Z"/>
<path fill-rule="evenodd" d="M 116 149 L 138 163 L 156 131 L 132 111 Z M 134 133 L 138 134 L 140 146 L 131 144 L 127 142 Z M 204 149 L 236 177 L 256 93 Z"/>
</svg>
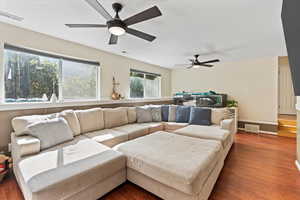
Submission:
<svg viewBox="0 0 300 200">
<path fill-rule="evenodd" d="M 101 108 L 77 110 L 75 113 L 79 119 L 81 133 L 104 129 L 104 116 Z"/>
</svg>

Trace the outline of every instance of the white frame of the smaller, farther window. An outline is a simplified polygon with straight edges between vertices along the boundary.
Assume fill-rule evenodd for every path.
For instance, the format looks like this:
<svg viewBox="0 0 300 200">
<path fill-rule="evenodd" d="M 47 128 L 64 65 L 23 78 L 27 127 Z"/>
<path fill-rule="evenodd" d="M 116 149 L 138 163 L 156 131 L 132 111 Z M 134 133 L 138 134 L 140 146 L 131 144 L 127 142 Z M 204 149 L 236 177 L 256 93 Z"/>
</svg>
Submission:
<svg viewBox="0 0 300 200">
<path fill-rule="evenodd" d="M 143 74 L 143 97 L 139 98 L 139 97 L 131 97 L 131 73 L 140 73 Z M 146 75 L 151 75 L 151 76 L 156 76 L 159 79 L 158 82 L 158 96 L 157 97 L 147 97 L 146 94 L 146 90 L 145 90 L 145 80 L 146 80 Z M 151 73 L 151 72 L 145 72 L 145 71 L 140 71 L 140 70 L 136 70 L 136 69 L 130 69 L 129 72 L 129 99 L 151 99 L 151 98 L 161 98 L 161 81 L 162 81 L 162 76 L 161 74 L 156 74 L 156 73 Z"/>
</svg>

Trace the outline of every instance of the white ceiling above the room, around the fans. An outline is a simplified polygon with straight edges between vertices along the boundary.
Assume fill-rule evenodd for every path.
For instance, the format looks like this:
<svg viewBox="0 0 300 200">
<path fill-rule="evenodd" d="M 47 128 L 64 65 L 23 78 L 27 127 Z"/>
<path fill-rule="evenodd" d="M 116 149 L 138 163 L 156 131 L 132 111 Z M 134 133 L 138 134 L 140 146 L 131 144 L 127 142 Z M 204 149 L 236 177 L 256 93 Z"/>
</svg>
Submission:
<svg viewBox="0 0 300 200">
<path fill-rule="evenodd" d="M 1 0 L 0 10 L 25 18 L 0 21 L 124 55 L 163 67 L 188 63 L 196 53 L 202 59 L 237 61 L 284 56 L 282 0 L 116 0 L 124 5 L 122 19 L 157 5 L 163 16 L 132 28 L 157 36 L 149 43 L 131 35 L 108 45 L 107 29 L 69 29 L 65 23 L 105 23 L 84 0 Z M 114 15 L 111 4 L 99 0 Z M 209 54 L 209 55 L 208 55 Z"/>
</svg>

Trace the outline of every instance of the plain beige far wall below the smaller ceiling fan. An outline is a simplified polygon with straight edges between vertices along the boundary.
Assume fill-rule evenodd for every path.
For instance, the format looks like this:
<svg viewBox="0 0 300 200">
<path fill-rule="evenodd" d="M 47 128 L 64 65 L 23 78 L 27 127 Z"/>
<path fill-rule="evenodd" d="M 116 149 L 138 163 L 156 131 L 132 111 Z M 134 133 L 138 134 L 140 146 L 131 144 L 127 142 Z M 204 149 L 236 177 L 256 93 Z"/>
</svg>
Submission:
<svg viewBox="0 0 300 200">
<path fill-rule="evenodd" d="M 220 63 L 214 68 L 172 71 L 172 93 L 226 93 L 239 102 L 239 120 L 277 123 L 278 58 Z"/>
</svg>

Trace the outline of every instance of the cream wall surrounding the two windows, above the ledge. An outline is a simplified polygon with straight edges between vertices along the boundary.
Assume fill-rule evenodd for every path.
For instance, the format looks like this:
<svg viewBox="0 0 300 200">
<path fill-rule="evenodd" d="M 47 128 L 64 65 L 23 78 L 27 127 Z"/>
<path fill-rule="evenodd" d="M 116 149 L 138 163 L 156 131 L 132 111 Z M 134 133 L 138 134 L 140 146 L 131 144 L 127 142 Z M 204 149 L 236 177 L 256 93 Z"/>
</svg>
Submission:
<svg viewBox="0 0 300 200">
<path fill-rule="evenodd" d="M 88 37 L 88 36 L 87 36 Z M 101 97 L 109 98 L 112 92 L 112 78 L 115 76 L 121 85 L 118 92 L 125 97 L 129 96 L 130 68 L 162 75 L 162 96 L 170 96 L 171 71 L 166 68 L 147 64 L 123 56 L 114 55 L 98 49 L 90 48 L 77 43 L 54 38 L 30 30 L 18 28 L 0 22 L 0 66 L 3 69 L 4 43 L 47 51 L 59 55 L 99 61 L 101 63 Z"/>
</svg>

